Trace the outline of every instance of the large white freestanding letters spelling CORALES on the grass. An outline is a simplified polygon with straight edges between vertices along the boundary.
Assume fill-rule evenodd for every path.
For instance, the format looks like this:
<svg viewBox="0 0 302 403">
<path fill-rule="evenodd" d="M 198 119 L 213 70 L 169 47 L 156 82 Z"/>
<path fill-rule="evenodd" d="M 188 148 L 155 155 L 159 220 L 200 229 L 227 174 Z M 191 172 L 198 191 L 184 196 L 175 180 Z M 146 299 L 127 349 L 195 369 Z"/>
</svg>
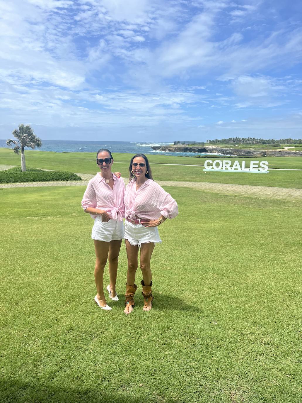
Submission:
<svg viewBox="0 0 302 403">
<path fill-rule="evenodd" d="M 248 163 L 250 166 L 244 160 L 205 160 L 204 171 L 269 173 L 269 163 L 267 161 L 248 161 Z"/>
</svg>

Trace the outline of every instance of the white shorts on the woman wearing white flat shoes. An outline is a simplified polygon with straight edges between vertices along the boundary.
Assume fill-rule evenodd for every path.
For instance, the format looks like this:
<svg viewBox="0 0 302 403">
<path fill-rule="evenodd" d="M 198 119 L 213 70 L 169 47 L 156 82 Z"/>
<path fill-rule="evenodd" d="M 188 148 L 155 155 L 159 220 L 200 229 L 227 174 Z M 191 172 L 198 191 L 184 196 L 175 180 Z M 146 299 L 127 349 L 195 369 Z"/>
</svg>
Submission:
<svg viewBox="0 0 302 403">
<path fill-rule="evenodd" d="M 110 219 L 103 222 L 100 216 L 94 220 L 91 238 L 97 241 L 118 241 L 124 238 L 124 223 L 118 220 Z"/>
</svg>

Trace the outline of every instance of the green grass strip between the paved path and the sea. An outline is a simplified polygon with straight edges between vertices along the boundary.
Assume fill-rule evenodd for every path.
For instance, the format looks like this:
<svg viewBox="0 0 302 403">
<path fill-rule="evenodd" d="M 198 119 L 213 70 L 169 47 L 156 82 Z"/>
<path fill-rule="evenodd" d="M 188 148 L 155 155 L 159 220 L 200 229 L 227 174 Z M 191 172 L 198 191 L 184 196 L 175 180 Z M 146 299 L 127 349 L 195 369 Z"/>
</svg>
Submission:
<svg viewBox="0 0 302 403">
<path fill-rule="evenodd" d="M 67 170 L 79 173 L 94 174 L 98 168 L 93 153 L 55 153 L 47 151 L 26 151 L 28 166 L 35 168 Z M 114 154 L 114 171 L 120 171 L 128 177 L 129 161 L 132 154 Z M 270 171 L 268 174 L 252 174 L 238 172 L 203 172 L 203 158 L 186 158 L 174 156 L 148 156 L 152 171 L 157 181 L 200 181 L 213 183 L 233 183 L 239 185 L 258 185 L 298 188 L 302 187 L 302 171 Z M 213 156 L 212 160 L 219 159 Z M 227 159 L 227 158 L 226 158 Z M 12 150 L 0 149 L 0 164 L 20 165 L 20 156 Z M 244 158 L 246 166 L 249 160 L 267 160 L 269 168 L 302 169 L 301 157 Z M 194 166 L 173 166 L 160 164 L 188 164 Z"/>
</svg>

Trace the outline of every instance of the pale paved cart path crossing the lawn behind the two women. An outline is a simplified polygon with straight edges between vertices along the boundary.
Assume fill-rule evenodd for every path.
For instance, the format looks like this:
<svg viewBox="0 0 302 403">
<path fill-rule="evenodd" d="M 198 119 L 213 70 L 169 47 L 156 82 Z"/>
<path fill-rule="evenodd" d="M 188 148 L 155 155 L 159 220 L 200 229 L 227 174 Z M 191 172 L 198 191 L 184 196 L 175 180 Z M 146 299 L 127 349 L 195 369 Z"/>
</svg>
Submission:
<svg viewBox="0 0 302 403">
<path fill-rule="evenodd" d="M 12 166 L 0 165 L 0 170 L 11 168 Z M 23 182 L 23 183 L 4 183 L 0 189 L 13 187 L 42 187 L 42 186 L 87 186 L 89 179 L 95 175 L 77 173 L 82 181 L 53 181 L 53 182 Z M 128 182 L 124 179 L 125 183 Z M 255 198 L 302 200 L 302 189 L 290 189 L 287 187 L 271 186 L 250 186 L 234 185 L 232 183 L 212 183 L 212 182 L 179 182 L 179 181 L 157 181 L 161 186 L 189 187 L 199 189 L 210 193 L 219 193 L 223 195 L 240 195 Z"/>
</svg>

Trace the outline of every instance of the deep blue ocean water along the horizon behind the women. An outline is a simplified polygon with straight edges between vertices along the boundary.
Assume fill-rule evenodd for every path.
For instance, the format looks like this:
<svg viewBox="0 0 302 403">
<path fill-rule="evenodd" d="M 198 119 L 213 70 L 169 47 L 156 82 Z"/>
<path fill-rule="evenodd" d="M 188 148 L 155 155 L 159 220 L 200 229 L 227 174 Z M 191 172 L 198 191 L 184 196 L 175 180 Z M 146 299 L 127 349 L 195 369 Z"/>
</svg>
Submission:
<svg viewBox="0 0 302 403">
<path fill-rule="evenodd" d="M 72 141 L 72 140 L 42 140 L 42 147 L 35 148 L 40 151 L 54 152 L 97 152 L 100 148 L 107 148 L 112 153 L 121 152 L 129 154 L 162 154 L 174 156 L 194 156 L 194 152 L 164 152 L 155 151 L 152 145 L 170 145 L 171 143 L 150 143 L 138 141 Z M 0 147 L 8 147 L 5 140 L 0 140 Z M 8 147 L 9 148 L 9 147 Z M 12 148 L 12 147 L 11 147 Z M 29 148 L 31 150 L 31 148 Z M 201 153 L 199 153 L 201 154 Z"/>
</svg>

